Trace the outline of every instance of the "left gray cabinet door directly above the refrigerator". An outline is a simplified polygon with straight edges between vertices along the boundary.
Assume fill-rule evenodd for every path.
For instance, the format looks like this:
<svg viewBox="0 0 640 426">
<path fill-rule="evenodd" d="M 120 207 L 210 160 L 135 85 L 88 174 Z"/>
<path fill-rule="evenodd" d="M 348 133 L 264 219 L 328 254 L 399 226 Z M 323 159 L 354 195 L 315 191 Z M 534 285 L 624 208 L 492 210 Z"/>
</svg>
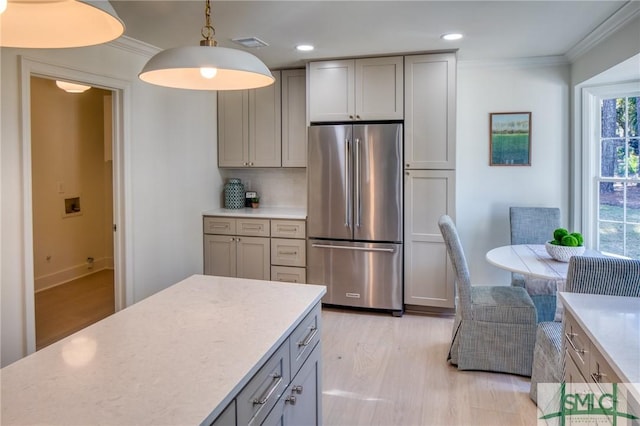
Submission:
<svg viewBox="0 0 640 426">
<path fill-rule="evenodd" d="M 309 120 L 355 119 L 355 61 L 309 63 Z"/>
</svg>

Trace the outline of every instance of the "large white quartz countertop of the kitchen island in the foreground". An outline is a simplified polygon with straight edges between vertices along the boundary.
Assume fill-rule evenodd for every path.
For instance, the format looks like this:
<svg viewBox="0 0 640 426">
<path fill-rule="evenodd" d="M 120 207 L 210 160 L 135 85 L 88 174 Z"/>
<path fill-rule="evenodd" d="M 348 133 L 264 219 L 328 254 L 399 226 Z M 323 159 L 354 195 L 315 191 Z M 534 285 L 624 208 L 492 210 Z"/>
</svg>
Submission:
<svg viewBox="0 0 640 426">
<path fill-rule="evenodd" d="M 0 370 L 2 424 L 211 422 L 325 291 L 189 277 Z"/>
</svg>

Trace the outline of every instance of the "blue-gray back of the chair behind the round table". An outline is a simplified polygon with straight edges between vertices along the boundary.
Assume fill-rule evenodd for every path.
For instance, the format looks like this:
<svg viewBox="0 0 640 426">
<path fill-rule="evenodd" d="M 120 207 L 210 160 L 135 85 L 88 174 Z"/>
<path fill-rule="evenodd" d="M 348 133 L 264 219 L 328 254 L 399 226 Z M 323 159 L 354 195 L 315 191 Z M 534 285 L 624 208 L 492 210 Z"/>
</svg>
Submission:
<svg viewBox="0 0 640 426">
<path fill-rule="evenodd" d="M 556 207 L 510 207 L 511 244 L 544 244 L 560 228 Z"/>
</svg>

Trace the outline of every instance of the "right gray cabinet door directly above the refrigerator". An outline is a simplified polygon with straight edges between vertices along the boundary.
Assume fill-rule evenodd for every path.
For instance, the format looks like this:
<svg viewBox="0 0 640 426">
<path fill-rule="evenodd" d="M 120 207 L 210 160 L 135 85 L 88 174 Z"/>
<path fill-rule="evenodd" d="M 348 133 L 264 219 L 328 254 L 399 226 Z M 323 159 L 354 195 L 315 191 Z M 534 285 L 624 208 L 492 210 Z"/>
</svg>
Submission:
<svg viewBox="0 0 640 426">
<path fill-rule="evenodd" d="M 356 60 L 356 120 L 402 120 L 403 58 Z"/>
</svg>

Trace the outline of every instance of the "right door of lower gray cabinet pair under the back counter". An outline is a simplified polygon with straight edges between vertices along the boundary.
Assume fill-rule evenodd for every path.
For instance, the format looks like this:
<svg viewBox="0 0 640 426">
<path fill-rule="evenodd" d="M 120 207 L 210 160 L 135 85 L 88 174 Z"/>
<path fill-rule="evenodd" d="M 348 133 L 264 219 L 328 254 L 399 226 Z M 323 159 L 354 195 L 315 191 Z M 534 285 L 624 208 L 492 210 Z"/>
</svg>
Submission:
<svg viewBox="0 0 640 426">
<path fill-rule="evenodd" d="M 269 238 L 236 237 L 238 278 L 269 280 L 271 278 Z"/>
</svg>

